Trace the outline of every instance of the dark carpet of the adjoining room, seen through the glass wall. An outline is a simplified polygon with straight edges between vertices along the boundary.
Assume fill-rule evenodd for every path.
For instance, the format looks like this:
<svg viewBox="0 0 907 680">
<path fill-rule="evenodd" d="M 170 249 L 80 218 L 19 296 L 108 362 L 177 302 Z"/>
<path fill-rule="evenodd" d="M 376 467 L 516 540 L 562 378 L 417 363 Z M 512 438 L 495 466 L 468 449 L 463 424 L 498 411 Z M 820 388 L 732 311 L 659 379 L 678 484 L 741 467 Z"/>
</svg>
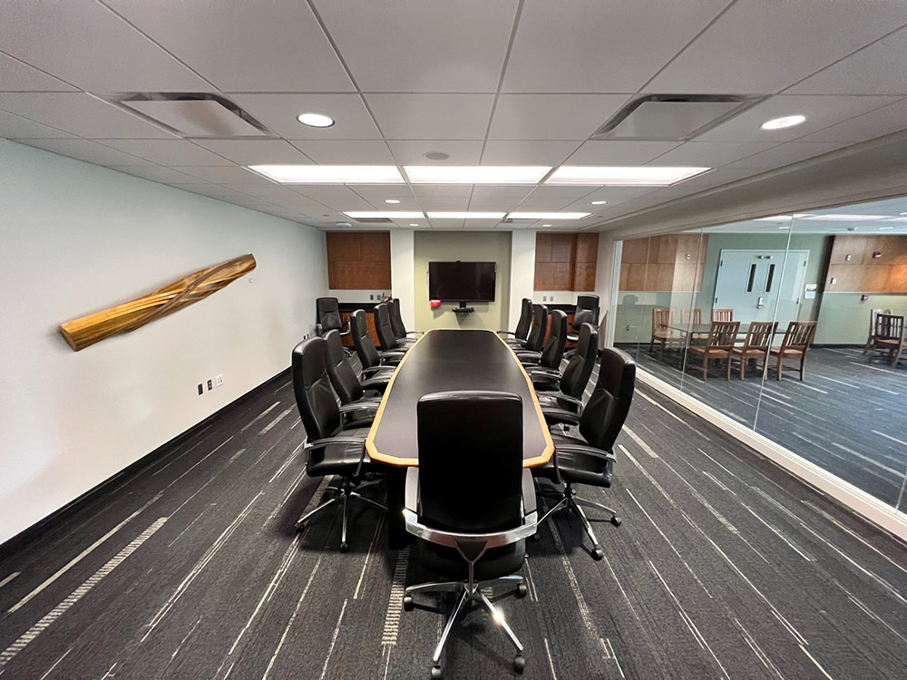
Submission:
<svg viewBox="0 0 907 680">
<path fill-rule="evenodd" d="M 890 505 L 901 502 L 907 510 L 907 366 L 887 362 L 868 364 L 862 349 L 814 347 L 806 357 L 803 383 L 796 371 L 782 374 L 770 369 L 765 390 L 761 363 L 740 381 L 726 379 L 723 366 L 714 362 L 702 380 L 698 357 L 681 374 L 682 355 L 649 345 L 624 347 L 636 355 L 649 373 L 680 387 L 756 432 L 784 445 L 824 470 L 851 482 Z M 794 362 L 790 363 L 795 365 Z M 736 366 L 736 362 L 735 362 Z"/>
</svg>

